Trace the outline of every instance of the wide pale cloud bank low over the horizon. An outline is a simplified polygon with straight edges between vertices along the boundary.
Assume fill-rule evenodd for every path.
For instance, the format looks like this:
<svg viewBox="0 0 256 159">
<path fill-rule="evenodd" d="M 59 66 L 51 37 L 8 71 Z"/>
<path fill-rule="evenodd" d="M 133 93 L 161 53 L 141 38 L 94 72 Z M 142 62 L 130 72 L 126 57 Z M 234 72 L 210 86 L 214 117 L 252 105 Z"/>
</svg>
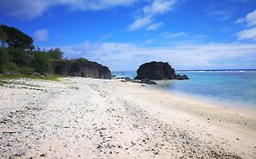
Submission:
<svg viewBox="0 0 256 159">
<path fill-rule="evenodd" d="M 67 57 L 85 57 L 108 65 L 111 70 L 136 70 L 148 61 L 167 61 L 177 69 L 250 67 L 256 62 L 256 44 L 183 44 L 162 47 L 118 43 L 90 43 L 60 47 Z M 223 63 L 225 61 L 225 63 Z M 234 64 L 236 61 L 237 64 Z M 240 62 L 244 63 L 241 65 Z M 229 65 L 227 65 L 229 64 Z M 251 65 L 251 67 L 255 65 Z"/>
</svg>

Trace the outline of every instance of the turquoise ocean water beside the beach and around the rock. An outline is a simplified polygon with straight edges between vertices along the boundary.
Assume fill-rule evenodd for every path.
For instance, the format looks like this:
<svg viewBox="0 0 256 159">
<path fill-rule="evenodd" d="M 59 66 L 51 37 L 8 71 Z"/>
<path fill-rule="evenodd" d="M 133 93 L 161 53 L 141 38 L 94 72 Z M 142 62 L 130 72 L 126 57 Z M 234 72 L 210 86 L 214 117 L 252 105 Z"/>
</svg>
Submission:
<svg viewBox="0 0 256 159">
<path fill-rule="evenodd" d="M 187 70 L 176 71 L 176 74 L 189 75 L 189 80 L 169 80 L 157 86 L 171 92 L 256 108 L 256 70 Z M 113 72 L 112 75 L 134 78 L 136 72 Z"/>
</svg>

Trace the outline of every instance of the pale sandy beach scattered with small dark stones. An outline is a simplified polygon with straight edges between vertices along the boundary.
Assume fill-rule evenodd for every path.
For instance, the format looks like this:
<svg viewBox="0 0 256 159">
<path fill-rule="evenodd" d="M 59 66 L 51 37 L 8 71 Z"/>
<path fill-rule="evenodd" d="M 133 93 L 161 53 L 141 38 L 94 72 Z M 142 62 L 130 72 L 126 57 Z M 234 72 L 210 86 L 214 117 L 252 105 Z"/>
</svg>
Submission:
<svg viewBox="0 0 256 159">
<path fill-rule="evenodd" d="M 256 111 L 120 80 L 10 80 L 0 158 L 256 158 Z"/>
</svg>

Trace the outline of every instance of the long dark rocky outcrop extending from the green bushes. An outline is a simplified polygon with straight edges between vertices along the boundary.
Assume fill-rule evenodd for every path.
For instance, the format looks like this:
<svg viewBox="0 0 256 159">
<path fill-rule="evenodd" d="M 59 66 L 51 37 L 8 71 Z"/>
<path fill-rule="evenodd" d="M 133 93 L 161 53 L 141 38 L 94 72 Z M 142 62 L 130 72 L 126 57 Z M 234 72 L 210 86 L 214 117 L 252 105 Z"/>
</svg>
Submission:
<svg viewBox="0 0 256 159">
<path fill-rule="evenodd" d="M 99 65 L 87 59 L 60 60 L 54 63 L 57 75 L 81 76 L 89 78 L 110 79 L 111 73 L 107 66 Z"/>
</svg>

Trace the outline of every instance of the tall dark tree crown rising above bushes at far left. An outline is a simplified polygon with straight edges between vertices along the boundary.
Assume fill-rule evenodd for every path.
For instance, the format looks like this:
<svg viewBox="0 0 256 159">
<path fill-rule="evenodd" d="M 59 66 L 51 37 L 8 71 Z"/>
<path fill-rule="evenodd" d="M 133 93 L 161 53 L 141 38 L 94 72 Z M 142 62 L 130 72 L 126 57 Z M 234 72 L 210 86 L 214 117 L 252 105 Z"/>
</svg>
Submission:
<svg viewBox="0 0 256 159">
<path fill-rule="evenodd" d="M 15 27 L 0 25 L 0 29 L 2 29 L 7 36 L 6 43 L 8 46 L 30 50 L 34 49 L 33 39 Z"/>
</svg>

